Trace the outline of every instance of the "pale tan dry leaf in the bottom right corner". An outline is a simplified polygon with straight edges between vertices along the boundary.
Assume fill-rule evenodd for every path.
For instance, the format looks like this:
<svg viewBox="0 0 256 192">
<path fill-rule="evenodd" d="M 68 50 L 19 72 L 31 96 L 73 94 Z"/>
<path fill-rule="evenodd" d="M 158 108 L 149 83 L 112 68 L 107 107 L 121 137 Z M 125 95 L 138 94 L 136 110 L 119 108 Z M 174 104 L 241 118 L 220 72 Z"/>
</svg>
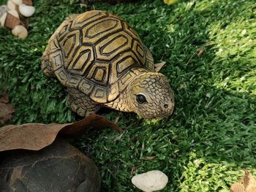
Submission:
<svg viewBox="0 0 256 192">
<path fill-rule="evenodd" d="M 231 185 L 230 192 L 256 192 L 255 178 L 246 170 L 242 179 Z"/>
</svg>

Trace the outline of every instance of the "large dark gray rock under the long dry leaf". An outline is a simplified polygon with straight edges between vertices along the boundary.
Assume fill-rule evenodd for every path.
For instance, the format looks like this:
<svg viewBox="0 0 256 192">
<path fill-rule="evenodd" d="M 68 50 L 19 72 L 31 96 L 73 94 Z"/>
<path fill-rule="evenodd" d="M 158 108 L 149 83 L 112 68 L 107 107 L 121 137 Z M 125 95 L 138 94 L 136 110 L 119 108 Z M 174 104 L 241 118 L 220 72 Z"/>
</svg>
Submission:
<svg viewBox="0 0 256 192">
<path fill-rule="evenodd" d="M 64 139 L 39 151 L 0 153 L 1 192 L 100 191 L 97 166 Z"/>
</svg>

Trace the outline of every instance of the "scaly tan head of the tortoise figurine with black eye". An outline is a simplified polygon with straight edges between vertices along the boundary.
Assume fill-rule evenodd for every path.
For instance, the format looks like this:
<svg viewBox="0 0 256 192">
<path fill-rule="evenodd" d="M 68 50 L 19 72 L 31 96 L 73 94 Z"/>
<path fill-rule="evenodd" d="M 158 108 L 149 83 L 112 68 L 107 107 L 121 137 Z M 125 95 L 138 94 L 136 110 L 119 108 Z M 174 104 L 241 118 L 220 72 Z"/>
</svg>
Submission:
<svg viewBox="0 0 256 192">
<path fill-rule="evenodd" d="M 163 118 L 173 113 L 174 97 L 165 75 L 146 72 L 138 75 L 127 88 L 132 112 L 142 118 Z"/>
</svg>

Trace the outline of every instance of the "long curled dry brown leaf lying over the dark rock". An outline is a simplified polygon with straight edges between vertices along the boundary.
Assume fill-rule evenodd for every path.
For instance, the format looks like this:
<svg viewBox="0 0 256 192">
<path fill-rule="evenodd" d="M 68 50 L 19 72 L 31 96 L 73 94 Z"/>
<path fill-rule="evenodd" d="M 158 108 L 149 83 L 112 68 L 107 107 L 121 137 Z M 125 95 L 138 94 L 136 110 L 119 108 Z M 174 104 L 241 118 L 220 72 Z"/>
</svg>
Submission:
<svg viewBox="0 0 256 192">
<path fill-rule="evenodd" d="M 115 128 L 116 131 L 121 131 L 110 120 L 95 114 L 75 123 L 27 123 L 20 126 L 4 126 L 0 128 L 0 151 L 15 149 L 40 150 L 50 145 L 59 132 L 66 137 L 72 137 L 83 134 L 91 127 L 103 128 L 106 126 Z"/>
</svg>

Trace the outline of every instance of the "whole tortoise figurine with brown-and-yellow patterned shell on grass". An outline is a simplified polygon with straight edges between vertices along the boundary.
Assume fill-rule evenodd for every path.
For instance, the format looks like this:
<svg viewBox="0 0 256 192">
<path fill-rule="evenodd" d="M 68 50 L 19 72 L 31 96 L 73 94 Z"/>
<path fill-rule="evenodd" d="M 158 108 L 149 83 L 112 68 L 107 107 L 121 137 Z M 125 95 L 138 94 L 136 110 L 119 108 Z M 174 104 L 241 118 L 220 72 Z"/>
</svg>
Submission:
<svg viewBox="0 0 256 192">
<path fill-rule="evenodd" d="M 93 10 L 71 15 L 56 29 L 42 55 L 42 72 L 67 87 L 80 116 L 110 107 L 142 118 L 171 115 L 173 91 L 155 71 L 151 52 L 121 18 Z"/>
</svg>

